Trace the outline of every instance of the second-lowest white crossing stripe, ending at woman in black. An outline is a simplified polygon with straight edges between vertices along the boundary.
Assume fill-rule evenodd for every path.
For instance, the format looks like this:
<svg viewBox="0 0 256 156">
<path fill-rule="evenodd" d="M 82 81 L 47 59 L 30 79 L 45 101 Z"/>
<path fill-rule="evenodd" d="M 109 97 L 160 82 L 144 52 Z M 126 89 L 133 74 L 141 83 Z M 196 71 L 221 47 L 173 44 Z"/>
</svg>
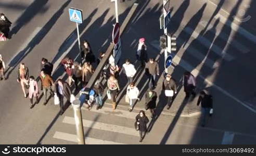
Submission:
<svg viewBox="0 0 256 156">
<path fill-rule="evenodd" d="M 63 119 L 62 122 L 75 125 L 74 118 L 69 117 L 69 116 L 65 116 L 65 118 Z M 106 124 L 103 122 L 96 122 L 96 121 L 90 121 L 90 120 L 83 119 L 83 126 L 94 128 L 94 129 L 100 129 L 100 130 L 104 130 L 104 131 L 110 131 L 110 132 L 114 132 L 114 133 L 122 133 L 122 134 L 126 134 L 126 135 L 139 136 L 139 134 L 136 132 L 136 130 L 134 128 L 113 125 L 113 124 Z"/>
</svg>

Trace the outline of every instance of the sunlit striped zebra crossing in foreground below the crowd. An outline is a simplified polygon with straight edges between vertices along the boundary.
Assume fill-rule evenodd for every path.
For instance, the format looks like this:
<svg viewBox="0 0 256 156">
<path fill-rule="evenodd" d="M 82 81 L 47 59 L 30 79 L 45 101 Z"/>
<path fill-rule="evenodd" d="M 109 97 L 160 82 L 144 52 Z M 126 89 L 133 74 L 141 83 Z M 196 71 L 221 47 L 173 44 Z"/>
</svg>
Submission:
<svg viewBox="0 0 256 156">
<path fill-rule="evenodd" d="M 85 144 L 107 144 L 107 145 L 123 145 L 123 144 L 138 144 L 139 132 L 134 128 L 135 117 L 138 114 L 138 108 L 134 108 L 133 112 L 129 112 L 128 107 L 118 106 L 115 111 L 112 111 L 111 104 L 105 103 L 103 109 L 96 110 L 93 107 L 88 111 L 82 107 L 83 127 L 85 135 Z M 72 108 L 70 108 L 72 109 Z M 70 110 L 72 112 L 72 110 Z M 89 116 L 108 116 L 107 120 L 93 120 Z M 146 115 L 150 119 L 149 112 Z M 86 118 L 89 119 L 86 119 Z M 104 117 L 104 118 L 105 118 Z M 53 135 L 53 138 L 68 142 L 78 142 L 75 132 L 75 120 L 73 115 L 64 116 L 61 125 L 72 128 L 73 133 L 65 132 L 66 129 L 58 129 Z M 91 133 L 93 133 L 91 135 Z"/>
</svg>

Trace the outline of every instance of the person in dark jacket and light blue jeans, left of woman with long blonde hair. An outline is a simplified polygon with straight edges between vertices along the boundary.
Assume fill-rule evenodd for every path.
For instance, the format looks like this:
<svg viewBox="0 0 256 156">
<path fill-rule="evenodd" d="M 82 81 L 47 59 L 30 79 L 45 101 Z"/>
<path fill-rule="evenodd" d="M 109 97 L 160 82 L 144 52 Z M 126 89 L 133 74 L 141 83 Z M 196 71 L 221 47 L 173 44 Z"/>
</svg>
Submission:
<svg viewBox="0 0 256 156">
<path fill-rule="evenodd" d="M 101 84 L 100 81 L 96 81 L 95 85 L 94 85 L 94 90 L 95 90 L 95 93 L 96 93 L 96 96 L 95 96 L 95 101 L 96 101 L 96 104 L 97 104 L 97 110 L 98 109 L 101 109 L 102 106 L 103 106 L 103 98 L 102 98 L 102 95 L 103 95 L 103 92 L 104 92 L 104 88 L 103 88 L 103 85 Z"/>
</svg>

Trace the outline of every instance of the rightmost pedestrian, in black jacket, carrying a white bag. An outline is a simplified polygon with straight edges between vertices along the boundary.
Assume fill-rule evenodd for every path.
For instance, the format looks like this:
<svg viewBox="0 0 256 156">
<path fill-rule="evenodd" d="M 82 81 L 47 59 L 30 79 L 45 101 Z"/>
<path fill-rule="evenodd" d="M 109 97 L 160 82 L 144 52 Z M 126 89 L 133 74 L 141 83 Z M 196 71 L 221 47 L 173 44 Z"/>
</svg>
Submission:
<svg viewBox="0 0 256 156">
<path fill-rule="evenodd" d="M 200 103 L 202 108 L 201 126 L 203 127 L 206 125 L 206 118 L 210 114 L 210 110 L 212 109 L 212 95 L 207 94 L 205 91 L 201 91 L 197 101 L 197 106 L 199 106 Z"/>
</svg>

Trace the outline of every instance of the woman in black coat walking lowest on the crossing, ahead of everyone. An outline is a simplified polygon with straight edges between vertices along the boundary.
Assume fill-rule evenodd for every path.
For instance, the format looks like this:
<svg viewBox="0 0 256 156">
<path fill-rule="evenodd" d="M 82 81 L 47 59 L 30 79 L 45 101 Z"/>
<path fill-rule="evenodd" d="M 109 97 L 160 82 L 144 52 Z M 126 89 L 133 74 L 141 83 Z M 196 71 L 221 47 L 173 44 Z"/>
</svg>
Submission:
<svg viewBox="0 0 256 156">
<path fill-rule="evenodd" d="M 142 142 L 147 132 L 147 123 L 149 122 L 149 120 L 143 110 L 139 111 L 139 114 L 136 116 L 135 119 L 136 119 L 135 124 L 137 124 L 138 130 L 139 130 L 139 136 L 140 136 L 139 142 Z"/>
</svg>

